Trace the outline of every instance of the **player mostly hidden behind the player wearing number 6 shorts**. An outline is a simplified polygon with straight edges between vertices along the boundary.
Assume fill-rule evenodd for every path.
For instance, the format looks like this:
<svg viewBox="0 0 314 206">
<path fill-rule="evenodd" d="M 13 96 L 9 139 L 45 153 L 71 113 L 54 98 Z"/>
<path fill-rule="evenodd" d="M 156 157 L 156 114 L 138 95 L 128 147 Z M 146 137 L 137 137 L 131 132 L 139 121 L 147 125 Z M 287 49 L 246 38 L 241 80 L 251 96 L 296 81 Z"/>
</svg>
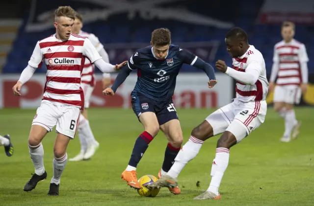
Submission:
<svg viewBox="0 0 314 206">
<path fill-rule="evenodd" d="M 76 19 L 73 25 L 72 33 L 77 34 L 82 37 L 86 37 L 95 46 L 98 53 L 101 55 L 103 60 L 109 63 L 109 57 L 104 49 L 104 46 L 99 42 L 98 38 L 94 34 L 90 34 L 81 30 L 83 27 L 83 17 L 81 14 L 77 13 Z M 94 91 L 96 80 L 94 74 L 95 66 L 90 62 L 88 58 L 85 58 L 84 68 L 81 76 L 81 88 L 84 92 L 84 110 L 81 112 L 78 122 L 78 138 L 80 141 L 80 152 L 79 154 L 69 159 L 69 161 L 80 161 L 90 159 L 99 147 L 98 141 L 96 141 L 93 132 L 90 128 L 89 121 L 87 118 L 87 109 L 89 108 L 89 102 Z M 110 85 L 111 79 L 109 73 L 104 73 L 104 87 Z"/>
</svg>

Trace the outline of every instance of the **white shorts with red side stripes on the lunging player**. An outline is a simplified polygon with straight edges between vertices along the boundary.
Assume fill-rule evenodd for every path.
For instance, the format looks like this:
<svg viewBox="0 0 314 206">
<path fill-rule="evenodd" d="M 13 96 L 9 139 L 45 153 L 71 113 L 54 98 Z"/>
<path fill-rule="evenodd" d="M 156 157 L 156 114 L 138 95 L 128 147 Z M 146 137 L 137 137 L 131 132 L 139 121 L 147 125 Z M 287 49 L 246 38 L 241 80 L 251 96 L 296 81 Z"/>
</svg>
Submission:
<svg viewBox="0 0 314 206">
<path fill-rule="evenodd" d="M 214 135 L 229 131 L 240 142 L 264 122 L 266 111 L 266 101 L 235 100 L 210 114 L 206 120 L 213 128 Z"/>
</svg>

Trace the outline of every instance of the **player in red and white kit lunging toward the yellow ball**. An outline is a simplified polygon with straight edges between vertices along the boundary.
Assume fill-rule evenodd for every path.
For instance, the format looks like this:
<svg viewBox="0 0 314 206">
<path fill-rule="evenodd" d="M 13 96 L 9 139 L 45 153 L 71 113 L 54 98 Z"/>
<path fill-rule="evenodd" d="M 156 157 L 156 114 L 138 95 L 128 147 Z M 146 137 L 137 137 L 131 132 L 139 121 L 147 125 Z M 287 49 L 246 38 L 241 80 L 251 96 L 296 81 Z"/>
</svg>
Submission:
<svg viewBox="0 0 314 206">
<path fill-rule="evenodd" d="M 195 198 L 221 199 L 218 188 L 228 166 L 230 148 L 264 122 L 268 82 L 263 56 L 259 50 L 248 44 L 247 34 L 241 28 L 231 29 L 226 34 L 225 41 L 228 52 L 233 56 L 233 69 L 221 60 L 216 62 L 216 67 L 236 80 L 234 102 L 210 114 L 192 130 L 188 142 L 177 155 L 169 172 L 156 183 L 152 183 L 151 187 L 177 186 L 179 173 L 188 161 L 196 157 L 204 141 L 222 133 L 212 162 L 209 188 Z"/>
</svg>

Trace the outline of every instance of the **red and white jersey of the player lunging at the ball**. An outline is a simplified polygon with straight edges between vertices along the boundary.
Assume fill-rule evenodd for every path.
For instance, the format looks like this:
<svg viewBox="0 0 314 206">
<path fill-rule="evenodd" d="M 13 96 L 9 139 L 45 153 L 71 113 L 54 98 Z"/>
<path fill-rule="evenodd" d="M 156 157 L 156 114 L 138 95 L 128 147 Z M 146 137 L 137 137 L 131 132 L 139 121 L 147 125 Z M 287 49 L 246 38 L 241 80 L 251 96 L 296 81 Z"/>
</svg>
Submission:
<svg viewBox="0 0 314 206">
<path fill-rule="evenodd" d="M 241 57 L 232 59 L 233 69 L 238 71 L 245 72 L 245 69 L 247 69 L 250 64 L 258 64 L 259 67 L 256 67 L 256 69 L 259 69 L 260 76 L 254 85 L 247 85 L 236 81 L 235 99 L 242 102 L 265 100 L 268 93 L 265 61 L 262 53 L 252 45 L 250 45 L 247 52 Z"/>
</svg>

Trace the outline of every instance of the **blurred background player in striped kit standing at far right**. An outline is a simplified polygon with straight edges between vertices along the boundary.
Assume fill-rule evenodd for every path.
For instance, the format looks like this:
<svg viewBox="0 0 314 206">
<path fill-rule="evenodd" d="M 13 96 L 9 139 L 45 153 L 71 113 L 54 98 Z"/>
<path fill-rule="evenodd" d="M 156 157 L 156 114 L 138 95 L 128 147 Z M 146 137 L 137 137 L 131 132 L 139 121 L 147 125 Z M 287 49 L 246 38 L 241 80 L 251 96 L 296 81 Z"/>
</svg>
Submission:
<svg viewBox="0 0 314 206">
<path fill-rule="evenodd" d="M 269 91 L 274 90 L 274 109 L 285 119 L 285 133 L 281 138 L 289 142 L 299 134 L 301 122 L 295 118 L 294 104 L 299 104 L 301 92 L 308 88 L 308 54 L 304 44 L 293 39 L 294 23 L 284 22 L 281 28 L 283 41 L 274 47 L 273 67 Z"/>
</svg>

